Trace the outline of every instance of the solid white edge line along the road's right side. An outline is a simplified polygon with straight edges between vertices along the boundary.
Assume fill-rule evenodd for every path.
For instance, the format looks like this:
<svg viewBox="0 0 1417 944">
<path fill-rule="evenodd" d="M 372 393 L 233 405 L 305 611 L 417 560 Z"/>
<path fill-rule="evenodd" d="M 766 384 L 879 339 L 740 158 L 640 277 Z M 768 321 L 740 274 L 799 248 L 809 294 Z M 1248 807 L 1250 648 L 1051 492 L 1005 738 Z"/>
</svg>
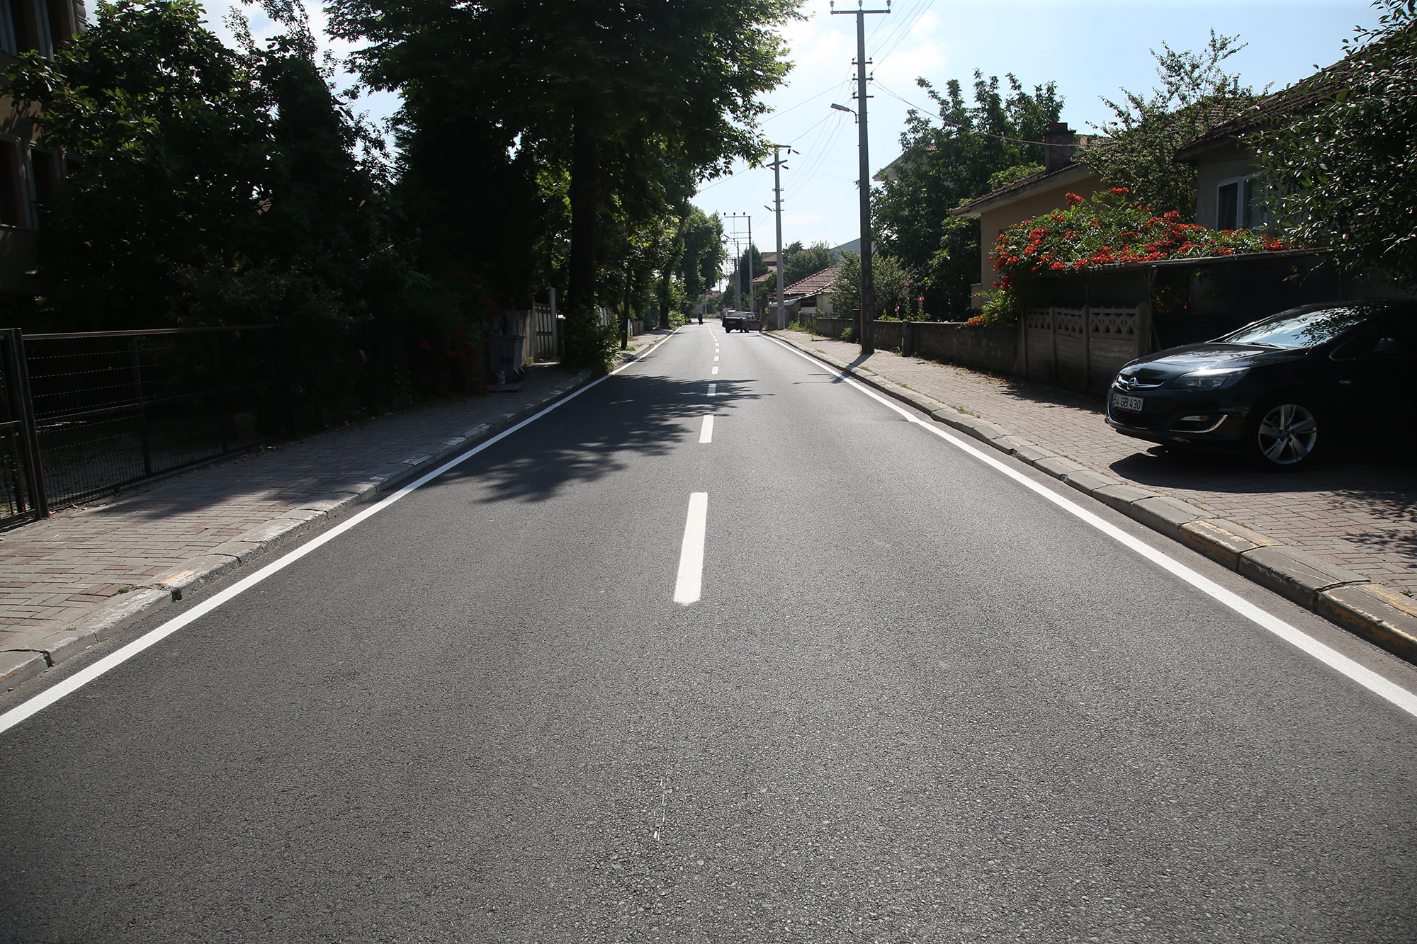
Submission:
<svg viewBox="0 0 1417 944">
<path fill-rule="evenodd" d="M 771 335 L 769 335 L 769 337 L 771 337 Z M 853 380 L 852 377 L 847 377 L 846 374 L 843 374 L 842 371 L 836 370 L 830 364 L 828 364 L 825 361 L 820 361 L 816 357 L 812 357 L 811 354 L 798 350 L 796 347 L 792 347 L 791 344 L 788 344 L 786 342 L 784 342 L 781 339 L 772 337 L 772 340 L 777 342 L 778 344 L 781 344 L 784 349 L 792 352 L 794 354 L 798 354 L 803 360 L 808 360 L 812 364 L 818 366 L 818 367 L 826 367 L 836 377 L 839 377 L 842 381 L 845 381 L 846 384 L 849 384 L 849 386 L 854 387 L 856 390 L 862 391 L 863 394 L 866 394 L 871 400 L 876 400 L 877 403 L 888 407 L 890 410 L 894 410 L 901 417 L 904 417 L 908 422 L 914 422 L 915 425 L 918 425 L 918 427 L 921 427 L 924 429 L 928 429 L 930 432 L 934 432 L 937 437 L 939 437 L 941 439 L 949 442 L 955 448 L 958 448 L 958 449 L 961 449 L 964 452 L 968 452 L 969 455 L 972 455 L 973 458 L 979 459 L 981 462 L 983 462 L 983 463 L 986 463 L 986 465 L 998 469 L 999 472 L 1003 472 L 1005 475 L 1007 475 L 1015 482 L 1019 482 L 1024 488 L 1027 488 L 1027 489 L 1030 489 L 1030 490 L 1041 495 L 1043 498 L 1046 498 L 1047 500 L 1053 502 L 1054 505 L 1057 505 L 1063 510 L 1068 512 L 1074 517 L 1081 519 L 1083 522 L 1091 524 L 1093 527 L 1095 527 L 1097 530 L 1102 532 L 1104 534 L 1107 534 L 1112 540 L 1115 540 L 1115 541 L 1124 544 L 1125 547 L 1136 551 L 1138 554 L 1141 554 L 1146 560 L 1152 561 L 1153 564 L 1156 564 L 1162 570 L 1165 570 L 1165 571 L 1168 571 L 1170 574 L 1175 574 L 1176 577 L 1180 577 L 1187 584 L 1190 584 L 1196 590 L 1200 590 L 1202 592 L 1204 592 L 1206 595 L 1212 597 L 1213 600 L 1216 600 L 1221 605 L 1229 607 L 1230 609 L 1233 609 L 1234 612 L 1240 614 L 1246 619 L 1250 619 L 1251 622 L 1260 625 L 1261 628 L 1268 629 L 1270 632 L 1272 632 L 1274 635 L 1280 636 L 1281 639 L 1284 639 L 1285 642 L 1288 642 L 1294 648 L 1299 649 L 1301 652 L 1305 652 L 1305 653 L 1314 656 L 1315 659 L 1318 659 L 1323 665 L 1329 666 L 1331 669 L 1343 673 L 1345 676 L 1348 676 L 1353 682 L 1357 682 L 1359 685 L 1362 685 L 1365 689 L 1367 689 L 1373 695 L 1377 695 L 1379 697 L 1386 699 L 1387 702 L 1391 702 L 1393 704 L 1396 704 L 1401 710 L 1404 710 L 1408 714 L 1417 717 L 1417 695 L 1408 692 L 1407 689 L 1401 687 L 1400 685 L 1396 685 L 1394 682 L 1389 682 L 1387 679 L 1384 679 L 1383 676 L 1377 675 L 1372 669 L 1369 669 L 1369 668 L 1366 668 L 1363 665 L 1359 665 L 1353 659 L 1349 659 L 1346 655 L 1343 655 L 1343 653 L 1340 653 L 1340 652 L 1329 648 L 1328 645 L 1319 642 L 1318 639 L 1315 639 L 1309 634 L 1304 632 L 1302 629 L 1299 629 L 1297 626 L 1292 626 L 1288 622 L 1285 622 L 1284 619 L 1280 619 L 1278 617 L 1275 617 L 1275 615 L 1272 615 L 1272 614 L 1261 609 L 1260 607 L 1257 607 L 1253 602 L 1244 600 L 1243 597 L 1240 597 L 1234 591 L 1226 590 L 1224 587 L 1221 587 L 1216 581 L 1210 580 L 1209 577 L 1204 577 L 1204 575 L 1199 574 L 1197 571 L 1192 570 L 1190 567 L 1187 567 L 1186 564 L 1182 564 L 1179 560 L 1175 560 L 1175 558 L 1169 557 L 1166 553 L 1159 551 L 1155 547 L 1151 547 L 1149 544 L 1145 544 L 1144 541 L 1132 537 L 1131 534 L 1128 534 L 1122 529 L 1117 527 L 1115 524 L 1112 524 L 1110 522 L 1102 520 L 1101 517 L 1098 517 L 1093 512 L 1087 510 L 1081 505 L 1077 505 L 1071 499 L 1068 499 L 1068 498 L 1066 498 L 1063 495 L 1058 495 L 1057 492 L 1054 492 L 1050 488 L 1044 488 L 1041 483 L 1034 482 L 1027 475 L 1019 472 L 1015 468 L 1010 468 L 1006 462 L 1002 462 L 1000 459 L 989 455 L 988 452 L 983 452 L 983 451 L 975 448 L 973 445 L 971 445 L 969 442 L 965 442 L 964 439 L 961 439 L 959 437 L 954 435 L 952 432 L 941 429 L 939 427 L 937 427 L 934 424 L 925 422 L 924 420 L 921 420 L 920 417 L 917 417 L 915 414 L 913 414 L 905 407 L 901 407 L 901 405 L 893 403 L 891 400 L 888 400 L 887 397 L 884 397 L 883 394 L 879 394 L 874 390 L 870 390 L 869 387 L 857 383 L 856 380 Z"/>
</svg>

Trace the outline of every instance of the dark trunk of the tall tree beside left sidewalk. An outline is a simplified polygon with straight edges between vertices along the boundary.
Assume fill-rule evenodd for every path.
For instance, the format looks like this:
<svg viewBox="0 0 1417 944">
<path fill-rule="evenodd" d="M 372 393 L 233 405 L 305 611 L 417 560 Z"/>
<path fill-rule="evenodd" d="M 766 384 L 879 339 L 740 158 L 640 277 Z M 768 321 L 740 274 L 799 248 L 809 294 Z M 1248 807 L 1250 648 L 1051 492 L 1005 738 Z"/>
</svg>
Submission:
<svg viewBox="0 0 1417 944">
<path fill-rule="evenodd" d="M 571 115 L 571 258 L 567 264 L 565 360 L 574 366 L 591 366 L 595 352 L 591 343 L 595 319 L 595 215 L 599 210 L 599 157 L 597 154 L 594 122 L 589 109 L 577 105 Z"/>
</svg>

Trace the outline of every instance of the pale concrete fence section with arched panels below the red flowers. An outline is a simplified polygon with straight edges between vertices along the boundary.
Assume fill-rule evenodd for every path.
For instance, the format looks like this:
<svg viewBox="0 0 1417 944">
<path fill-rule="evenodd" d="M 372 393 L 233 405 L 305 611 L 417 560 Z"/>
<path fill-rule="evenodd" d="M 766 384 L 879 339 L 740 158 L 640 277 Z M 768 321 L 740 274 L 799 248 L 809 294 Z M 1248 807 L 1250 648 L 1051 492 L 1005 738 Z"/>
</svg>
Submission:
<svg viewBox="0 0 1417 944">
<path fill-rule="evenodd" d="M 1151 344 L 1151 306 L 1034 308 L 1017 332 L 1023 376 L 1074 390 L 1104 390 Z"/>
</svg>

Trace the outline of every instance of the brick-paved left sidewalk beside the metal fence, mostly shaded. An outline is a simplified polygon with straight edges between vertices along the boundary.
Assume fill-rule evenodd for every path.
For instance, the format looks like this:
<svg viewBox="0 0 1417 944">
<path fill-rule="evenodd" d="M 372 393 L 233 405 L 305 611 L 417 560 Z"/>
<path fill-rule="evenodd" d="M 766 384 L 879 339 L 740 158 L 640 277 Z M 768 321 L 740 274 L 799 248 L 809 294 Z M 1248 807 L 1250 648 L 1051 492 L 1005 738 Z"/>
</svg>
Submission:
<svg viewBox="0 0 1417 944">
<path fill-rule="evenodd" d="M 636 342 L 655 340 L 640 336 Z M 371 471 L 496 422 L 543 400 L 568 374 L 529 370 L 523 388 L 388 414 L 162 479 L 150 488 L 57 510 L 0 534 L 0 645 L 71 622 L 126 587 L 296 513 Z"/>
</svg>

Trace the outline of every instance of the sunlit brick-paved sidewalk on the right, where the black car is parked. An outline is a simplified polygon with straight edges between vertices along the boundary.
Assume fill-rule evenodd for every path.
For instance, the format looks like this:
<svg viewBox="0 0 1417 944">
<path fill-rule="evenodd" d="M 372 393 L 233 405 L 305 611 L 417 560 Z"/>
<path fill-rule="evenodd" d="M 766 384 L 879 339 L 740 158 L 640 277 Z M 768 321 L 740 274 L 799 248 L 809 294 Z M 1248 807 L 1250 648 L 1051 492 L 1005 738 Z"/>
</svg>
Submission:
<svg viewBox="0 0 1417 944">
<path fill-rule="evenodd" d="M 1312 557 L 1417 594 L 1417 469 L 1411 459 L 1329 459 L 1294 473 L 1216 455 L 1175 455 L 1114 432 L 1095 398 L 801 332 L 774 332 L 857 370 L 995 422 L 1104 475 L 1189 502 Z"/>
</svg>

